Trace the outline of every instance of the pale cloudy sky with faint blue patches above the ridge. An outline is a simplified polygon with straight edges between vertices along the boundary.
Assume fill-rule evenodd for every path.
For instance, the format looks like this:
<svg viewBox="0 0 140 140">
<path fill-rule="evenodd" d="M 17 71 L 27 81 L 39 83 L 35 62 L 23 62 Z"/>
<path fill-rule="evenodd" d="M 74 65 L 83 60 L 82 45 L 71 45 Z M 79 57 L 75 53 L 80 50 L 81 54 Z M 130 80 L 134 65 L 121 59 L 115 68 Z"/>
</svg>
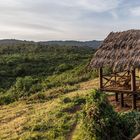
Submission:
<svg viewBox="0 0 140 140">
<path fill-rule="evenodd" d="M 0 0 L 0 39 L 103 40 L 140 29 L 140 0 Z"/>
</svg>

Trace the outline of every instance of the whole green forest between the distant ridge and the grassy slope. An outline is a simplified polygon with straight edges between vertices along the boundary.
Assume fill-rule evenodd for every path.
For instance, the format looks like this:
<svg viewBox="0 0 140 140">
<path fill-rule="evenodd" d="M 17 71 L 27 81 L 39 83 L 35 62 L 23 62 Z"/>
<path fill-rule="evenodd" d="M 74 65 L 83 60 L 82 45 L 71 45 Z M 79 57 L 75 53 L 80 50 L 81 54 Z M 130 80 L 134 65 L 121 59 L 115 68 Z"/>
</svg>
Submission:
<svg viewBox="0 0 140 140">
<path fill-rule="evenodd" d="M 86 72 L 86 66 L 94 51 L 91 47 L 25 41 L 1 44 L 0 104 L 53 87 L 72 88 L 74 84 L 88 80 L 91 72 Z"/>
</svg>

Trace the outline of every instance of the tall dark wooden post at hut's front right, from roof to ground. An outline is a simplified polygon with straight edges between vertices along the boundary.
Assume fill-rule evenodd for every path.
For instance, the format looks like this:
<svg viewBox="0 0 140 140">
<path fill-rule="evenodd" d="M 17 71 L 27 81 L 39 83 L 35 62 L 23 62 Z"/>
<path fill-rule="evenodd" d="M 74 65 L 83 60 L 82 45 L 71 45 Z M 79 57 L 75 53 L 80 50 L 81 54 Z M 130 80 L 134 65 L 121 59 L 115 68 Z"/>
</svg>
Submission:
<svg viewBox="0 0 140 140">
<path fill-rule="evenodd" d="M 132 109 L 136 109 L 136 77 L 135 69 L 131 71 Z"/>
</svg>

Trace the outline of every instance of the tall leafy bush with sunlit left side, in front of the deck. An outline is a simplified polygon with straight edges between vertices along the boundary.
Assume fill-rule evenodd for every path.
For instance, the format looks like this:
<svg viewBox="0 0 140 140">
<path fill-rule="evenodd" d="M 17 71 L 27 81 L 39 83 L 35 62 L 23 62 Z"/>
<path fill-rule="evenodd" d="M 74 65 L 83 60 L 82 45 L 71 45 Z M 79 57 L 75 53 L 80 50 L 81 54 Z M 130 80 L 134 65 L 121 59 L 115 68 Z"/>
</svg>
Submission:
<svg viewBox="0 0 140 140">
<path fill-rule="evenodd" d="M 117 123 L 118 114 L 109 105 L 105 95 L 93 91 L 87 99 L 84 112 L 84 126 L 88 139 L 121 140 Z"/>
</svg>

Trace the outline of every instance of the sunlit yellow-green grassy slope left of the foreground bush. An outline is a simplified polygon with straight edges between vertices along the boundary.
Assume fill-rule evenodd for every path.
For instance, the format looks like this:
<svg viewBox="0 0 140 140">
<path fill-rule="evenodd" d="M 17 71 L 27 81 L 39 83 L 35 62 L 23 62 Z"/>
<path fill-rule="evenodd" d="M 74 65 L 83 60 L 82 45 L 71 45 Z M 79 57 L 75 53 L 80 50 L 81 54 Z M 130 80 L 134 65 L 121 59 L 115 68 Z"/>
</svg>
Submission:
<svg viewBox="0 0 140 140">
<path fill-rule="evenodd" d="M 75 99 L 85 98 L 98 81 L 83 82 L 77 91 L 50 101 L 18 101 L 0 108 L 0 139 L 78 139 L 80 108 Z M 63 99 L 71 101 L 64 103 Z M 73 110 L 69 110 L 73 109 Z M 53 124 L 51 124 L 53 121 Z M 59 132 L 60 131 L 60 132 Z M 78 136 L 77 136 L 78 135 Z"/>
</svg>

